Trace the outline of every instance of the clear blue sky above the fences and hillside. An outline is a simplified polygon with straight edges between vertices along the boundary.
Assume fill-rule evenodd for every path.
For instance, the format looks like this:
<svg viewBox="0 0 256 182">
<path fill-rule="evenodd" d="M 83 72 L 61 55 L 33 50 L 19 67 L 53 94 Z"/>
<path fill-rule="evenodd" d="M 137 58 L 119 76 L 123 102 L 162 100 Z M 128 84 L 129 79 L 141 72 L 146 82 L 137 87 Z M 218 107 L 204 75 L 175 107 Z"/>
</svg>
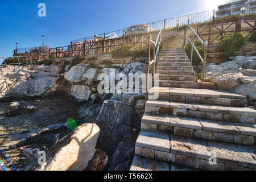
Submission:
<svg viewBox="0 0 256 182">
<path fill-rule="evenodd" d="M 38 4 L 46 4 L 46 17 Z M 45 44 L 67 46 L 71 40 L 216 9 L 224 0 L 1 0 L 0 57 L 18 48 Z"/>
</svg>

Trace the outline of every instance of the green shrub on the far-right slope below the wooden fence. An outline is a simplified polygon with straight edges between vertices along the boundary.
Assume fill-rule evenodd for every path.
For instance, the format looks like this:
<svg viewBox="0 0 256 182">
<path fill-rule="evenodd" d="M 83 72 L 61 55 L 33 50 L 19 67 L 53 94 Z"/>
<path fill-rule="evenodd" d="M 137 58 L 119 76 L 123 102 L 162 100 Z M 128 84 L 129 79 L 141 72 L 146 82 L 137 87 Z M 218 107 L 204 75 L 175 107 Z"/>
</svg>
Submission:
<svg viewBox="0 0 256 182">
<path fill-rule="evenodd" d="M 245 44 L 246 36 L 241 33 L 225 34 L 223 38 L 217 39 L 216 52 L 223 52 L 222 57 L 228 59 L 229 56 L 236 56 L 236 52 Z"/>
</svg>

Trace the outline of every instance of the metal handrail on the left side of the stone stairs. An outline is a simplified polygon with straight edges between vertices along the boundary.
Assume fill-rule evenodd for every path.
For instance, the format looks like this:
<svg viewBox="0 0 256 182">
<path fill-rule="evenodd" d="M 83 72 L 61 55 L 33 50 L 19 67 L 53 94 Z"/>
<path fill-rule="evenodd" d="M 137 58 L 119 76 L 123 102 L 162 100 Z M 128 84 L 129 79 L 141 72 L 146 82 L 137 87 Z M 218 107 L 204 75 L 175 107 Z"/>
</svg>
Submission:
<svg viewBox="0 0 256 182">
<path fill-rule="evenodd" d="M 159 47 L 160 43 L 162 42 L 162 29 L 159 30 L 158 37 L 156 38 L 156 42 L 153 42 L 151 40 L 151 37 L 148 37 L 148 46 L 147 46 L 147 70 L 146 70 L 146 96 L 145 100 L 148 100 L 148 78 L 149 78 L 149 72 L 150 72 L 150 65 L 153 65 L 153 73 L 152 73 L 152 79 L 154 84 L 154 77 L 155 77 L 155 63 L 156 60 L 158 60 L 159 57 Z M 150 61 L 150 47 L 151 44 L 154 45 L 154 60 Z"/>
</svg>

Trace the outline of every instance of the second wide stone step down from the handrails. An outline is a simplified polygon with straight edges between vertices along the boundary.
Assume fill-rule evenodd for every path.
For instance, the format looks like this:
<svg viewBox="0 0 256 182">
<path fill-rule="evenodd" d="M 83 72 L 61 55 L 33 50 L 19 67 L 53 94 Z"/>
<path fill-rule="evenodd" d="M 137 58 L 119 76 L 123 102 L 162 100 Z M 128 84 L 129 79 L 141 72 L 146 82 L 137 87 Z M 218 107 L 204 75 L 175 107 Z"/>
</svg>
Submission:
<svg viewBox="0 0 256 182">
<path fill-rule="evenodd" d="M 151 96 L 152 97 L 152 96 Z M 173 101 L 147 101 L 146 113 L 171 114 L 180 117 L 211 119 L 237 123 L 256 124 L 256 110 L 250 107 L 185 104 Z"/>
</svg>

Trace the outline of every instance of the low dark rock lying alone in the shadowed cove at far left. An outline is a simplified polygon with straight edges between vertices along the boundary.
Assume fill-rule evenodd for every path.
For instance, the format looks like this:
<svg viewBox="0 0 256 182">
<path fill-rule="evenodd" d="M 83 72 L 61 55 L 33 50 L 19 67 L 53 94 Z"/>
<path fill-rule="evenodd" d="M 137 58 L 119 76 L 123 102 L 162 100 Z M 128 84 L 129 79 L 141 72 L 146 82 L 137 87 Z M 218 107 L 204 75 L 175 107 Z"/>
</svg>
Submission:
<svg viewBox="0 0 256 182">
<path fill-rule="evenodd" d="M 5 115 L 7 117 L 14 117 L 35 111 L 35 106 L 32 106 L 24 101 L 11 102 L 10 106 L 6 109 Z"/>
</svg>

